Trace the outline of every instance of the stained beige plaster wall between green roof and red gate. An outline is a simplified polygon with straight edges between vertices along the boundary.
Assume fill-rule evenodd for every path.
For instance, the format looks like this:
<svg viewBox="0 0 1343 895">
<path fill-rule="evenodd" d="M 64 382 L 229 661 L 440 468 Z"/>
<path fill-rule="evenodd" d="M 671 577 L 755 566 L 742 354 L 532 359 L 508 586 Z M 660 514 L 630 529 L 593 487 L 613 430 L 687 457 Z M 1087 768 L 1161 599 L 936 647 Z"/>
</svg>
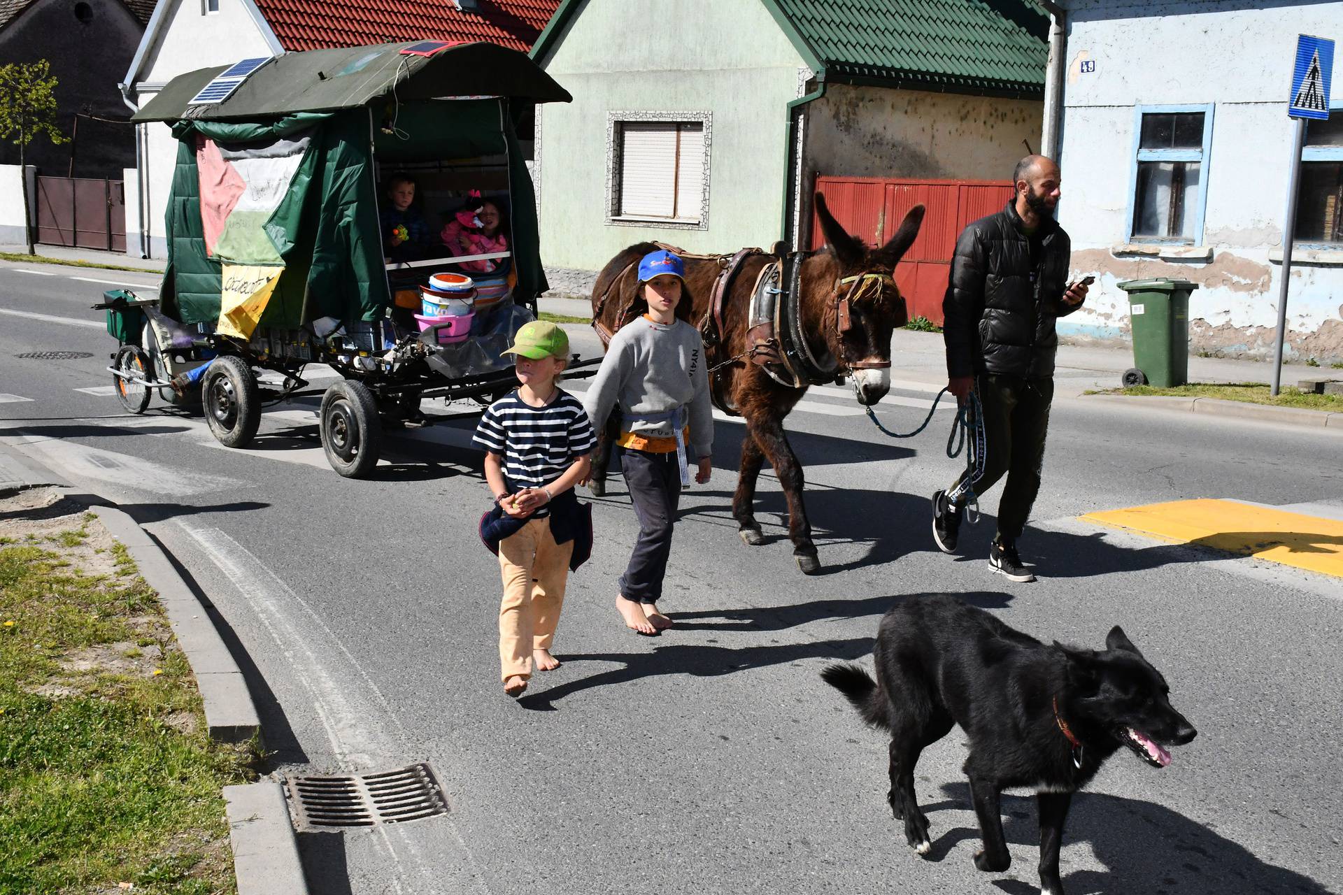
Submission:
<svg viewBox="0 0 1343 895">
<path fill-rule="evenodd" d="M 833 85 L 807 106 L 806 169 L 841 177 L 1010 180 L 1044 102 Z"/>
</svg>

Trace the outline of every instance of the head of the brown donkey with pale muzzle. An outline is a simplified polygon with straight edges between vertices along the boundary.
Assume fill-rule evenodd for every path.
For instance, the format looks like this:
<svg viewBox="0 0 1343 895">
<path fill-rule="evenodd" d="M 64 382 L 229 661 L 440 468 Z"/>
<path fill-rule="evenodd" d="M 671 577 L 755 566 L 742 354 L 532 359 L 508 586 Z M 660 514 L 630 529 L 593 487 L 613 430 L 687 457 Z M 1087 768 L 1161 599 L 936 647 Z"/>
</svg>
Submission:
<svg viewBox="0 0 1343 895">
<path fill-rule="evenodd" d="M 900 229 L 880 248 L 850 236 L 817 193 L 817 216 L 826 252 L 817 256 L 817 278 L 808 276 L 810 301 L 825 301 L 826 344 L 839 369 L 853 373 L 858 401 L 876 404 L 890 390 L 890 334 L 909 322 L 905 299 L 896 286 L 896 264 L 909 251 L 923 224 L 924 207 L 915 205 Z"/>
</svg>

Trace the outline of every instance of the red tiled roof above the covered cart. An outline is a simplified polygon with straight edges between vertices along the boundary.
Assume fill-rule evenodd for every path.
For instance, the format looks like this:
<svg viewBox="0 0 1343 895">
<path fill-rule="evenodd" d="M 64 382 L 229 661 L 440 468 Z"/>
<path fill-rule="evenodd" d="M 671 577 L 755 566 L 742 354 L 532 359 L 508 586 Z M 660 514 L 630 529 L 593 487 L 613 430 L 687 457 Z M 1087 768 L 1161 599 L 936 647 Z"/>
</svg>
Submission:
<svg viewBox="0 0 1343 895">
<path fill-rule="evenodd" d="M 489 40 L 526 52 L 560 0 L 255 0 L 285 50 L 400 40 Z M 470 5 L 470 4 L 467 4 Z"/>
</svg>

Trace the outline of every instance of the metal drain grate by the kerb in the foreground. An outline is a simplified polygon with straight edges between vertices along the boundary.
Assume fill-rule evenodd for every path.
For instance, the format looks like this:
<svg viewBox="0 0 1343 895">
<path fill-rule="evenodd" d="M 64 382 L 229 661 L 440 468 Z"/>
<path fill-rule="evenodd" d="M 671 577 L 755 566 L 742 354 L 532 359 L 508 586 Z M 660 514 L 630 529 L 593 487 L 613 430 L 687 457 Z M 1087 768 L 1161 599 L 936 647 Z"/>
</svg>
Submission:
<svg viewBox="0 0 1343 895">
<path fill-rule="evenodd" d="M 351 777 L 290 777 L 287 784 L 299 829 L 400 824 L 447 813 L 427 764 Z"/>
</svg>

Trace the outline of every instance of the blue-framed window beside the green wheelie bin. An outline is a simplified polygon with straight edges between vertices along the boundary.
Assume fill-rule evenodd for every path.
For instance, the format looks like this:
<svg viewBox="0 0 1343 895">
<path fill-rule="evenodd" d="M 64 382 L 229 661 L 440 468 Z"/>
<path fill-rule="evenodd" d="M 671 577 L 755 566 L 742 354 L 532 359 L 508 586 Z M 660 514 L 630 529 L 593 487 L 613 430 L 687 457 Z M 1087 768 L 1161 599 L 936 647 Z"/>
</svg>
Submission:
<svg viewBox="0 0 1343 895">
<path fill-rule="evenodd" d="M 1211 106 L 1140 106 L 1135 122 L 1131 242 L 1203 239 Z"/>
</svg>

